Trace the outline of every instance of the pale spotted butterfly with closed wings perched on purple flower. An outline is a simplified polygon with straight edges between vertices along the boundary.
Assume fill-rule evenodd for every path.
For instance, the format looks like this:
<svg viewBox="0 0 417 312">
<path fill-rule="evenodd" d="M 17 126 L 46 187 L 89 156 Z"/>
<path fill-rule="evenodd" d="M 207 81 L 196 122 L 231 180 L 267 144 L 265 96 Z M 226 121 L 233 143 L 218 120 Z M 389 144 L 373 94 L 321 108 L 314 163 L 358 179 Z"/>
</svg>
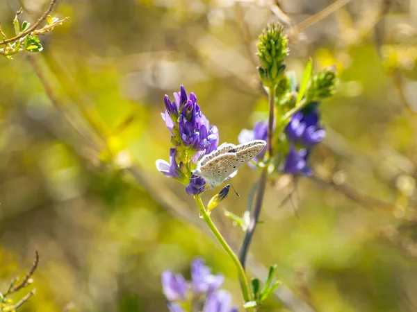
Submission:
<svg viewBox="0 0 417 312">
<path fill-rule="evenodd" d="M 193 174 L 202 177 L 206 184 L 214 189 L 214 187 L 222 184 L 224 180 L 236 175 L 238 168 L 261 153 L 265 146 L 266 142 L 263 140 L 254 140 L 238 146 L 223 143 L 197 162 L 197 168 L 195 168 Z"/>
</svg>

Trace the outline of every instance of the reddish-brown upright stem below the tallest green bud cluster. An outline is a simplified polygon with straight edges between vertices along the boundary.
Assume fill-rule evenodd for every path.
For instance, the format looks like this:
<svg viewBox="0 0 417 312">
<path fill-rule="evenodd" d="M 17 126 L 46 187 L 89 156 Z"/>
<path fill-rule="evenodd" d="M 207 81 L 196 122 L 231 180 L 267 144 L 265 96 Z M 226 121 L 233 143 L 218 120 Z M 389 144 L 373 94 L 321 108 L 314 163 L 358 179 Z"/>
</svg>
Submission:
<svg viewBox="0 0 417 312">
<path fill-rule="evenodd" d="M 268 157 L 274 155 L 274 147 L 272 146 L 272 139 L 274 137 L 274 108 L 275 108 L 275 86 L 269 89 L 269 119 L 268 119 Z M 242 248 L 240 248 L 239 261 L 245 268 L 247 253 L 249 252 L 250 243 L 254 236 L 256 225 L 261 216 L 263 196 L 265 195 L 266 180 L 268 179 L 268 166 L 263 167 L 261 178 L 259 179 L 259 187 L 256 192 L 255 205 L 252 213 L 250 214 L 250 221 L 247 225 L 245 232 L 245 238 L 243 239 Z"/>
</svg>

